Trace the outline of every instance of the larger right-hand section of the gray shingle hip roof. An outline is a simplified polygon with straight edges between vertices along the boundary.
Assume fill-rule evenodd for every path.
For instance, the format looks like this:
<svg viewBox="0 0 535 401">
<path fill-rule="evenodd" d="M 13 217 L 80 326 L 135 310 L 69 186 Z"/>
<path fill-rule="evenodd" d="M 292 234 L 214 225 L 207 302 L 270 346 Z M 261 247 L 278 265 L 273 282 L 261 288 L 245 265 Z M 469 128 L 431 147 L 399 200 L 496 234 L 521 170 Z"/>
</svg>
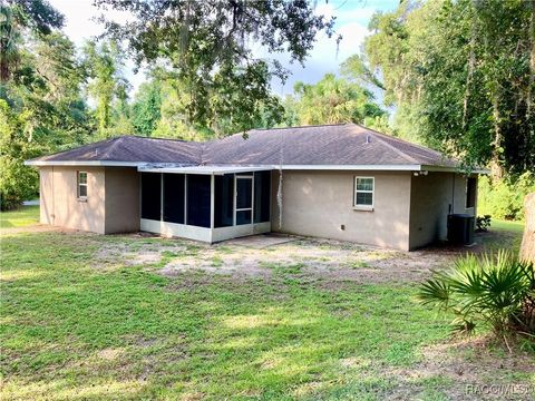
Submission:
<svg viewBox="0 0 535 401">
<path fill-rule="evenodd" d="M 436 165 L 453 166 L 440 153 L 356 124 L 253 129 L 212 141 L 205 164 Z"/>
</svg>

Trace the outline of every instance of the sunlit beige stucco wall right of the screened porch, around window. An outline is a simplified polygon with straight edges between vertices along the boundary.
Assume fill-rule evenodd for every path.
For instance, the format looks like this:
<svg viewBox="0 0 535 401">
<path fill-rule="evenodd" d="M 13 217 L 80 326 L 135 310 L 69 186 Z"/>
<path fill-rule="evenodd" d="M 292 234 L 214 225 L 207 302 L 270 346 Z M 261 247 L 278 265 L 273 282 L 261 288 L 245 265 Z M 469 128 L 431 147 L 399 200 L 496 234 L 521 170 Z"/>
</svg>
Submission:
<svg viewBox="0 0 535 401">
<path fill-rule="evenodd" d="M 374 177 L 372 212 L 353 209 L 354 176 Z M 279 173 L 274 172 L 272 229 L 408 250 L 410 183 L 409 172 L 284 172 L 279 227 Z"/>
</svg>

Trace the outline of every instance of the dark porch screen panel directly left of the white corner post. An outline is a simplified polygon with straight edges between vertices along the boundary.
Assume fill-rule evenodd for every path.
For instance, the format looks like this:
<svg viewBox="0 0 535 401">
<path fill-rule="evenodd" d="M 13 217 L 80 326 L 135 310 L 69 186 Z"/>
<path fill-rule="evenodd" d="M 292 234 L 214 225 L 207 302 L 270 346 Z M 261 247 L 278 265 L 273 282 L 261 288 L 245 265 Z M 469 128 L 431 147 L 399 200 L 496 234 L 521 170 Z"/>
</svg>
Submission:
<svg viewBox="0 0 535 401">
<path fill-rule="evenodd" d="M 187 175 L 187 225 L 210 228 L 210 175 Z"/>
</svg>

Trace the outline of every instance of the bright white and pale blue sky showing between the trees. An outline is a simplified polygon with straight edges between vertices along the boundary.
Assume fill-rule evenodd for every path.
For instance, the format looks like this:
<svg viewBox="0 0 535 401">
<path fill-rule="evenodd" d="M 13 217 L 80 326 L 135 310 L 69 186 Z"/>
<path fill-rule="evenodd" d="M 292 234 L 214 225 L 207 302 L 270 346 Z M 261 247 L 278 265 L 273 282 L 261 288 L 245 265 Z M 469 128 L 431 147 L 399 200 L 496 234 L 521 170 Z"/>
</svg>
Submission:
<svg viewBox="0 0 535 401">
<path fill-rule="evenodd" d="M 64 31 L 77 46 L 103 33 L 103 26 L 94 20 L 101 11 L 93 6 L 93 0 L 49 0 L 49 2 L 65 14 Z M 285 55 L 270 55 L 269 57 L 276 58 L 292 72 L 284 85 L 273 80 L 273 91 L 281 96 L 291 94 L 296 81 L 314 84 L 327 72 L 337 72 L 343 60 L 359 52 L 364 37 L 369 35 L 368 22 L 373 12 L 390 11 L 398 4 L 399 0 L 317 0 L 315 13 L 337 17 L 334 26 L 337 35 L 329 39 L 327 35 L 320 33 L 304 67 L 300 63 L 290 63 Z M 117 21 L 125 21 L 128 18 L 127 14 L 115 11 L 108 11 L 106 17 Z M 334 38 L 338 33 L 342 36 L 342 41 L 337 51 Z M 255 51 L 262 52 L 261 49 Z M 125 76 L 135 91 L 145 80 L 145 76 L 143 71 L 134 74 L 133 67 L 129 62 L 126 65 Z"/>
</svg>

